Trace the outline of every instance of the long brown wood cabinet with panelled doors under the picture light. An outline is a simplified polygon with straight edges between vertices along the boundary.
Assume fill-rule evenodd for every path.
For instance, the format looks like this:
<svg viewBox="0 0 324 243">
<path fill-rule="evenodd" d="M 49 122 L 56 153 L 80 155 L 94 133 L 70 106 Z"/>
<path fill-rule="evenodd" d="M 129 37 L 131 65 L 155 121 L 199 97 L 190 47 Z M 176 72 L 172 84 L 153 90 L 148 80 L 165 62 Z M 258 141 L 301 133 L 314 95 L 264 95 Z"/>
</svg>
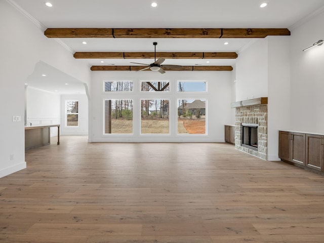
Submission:
<svg viewBox="0 0 324 243">
<path fill-rule="evenodd" d="M 279 158 L 324 172 L 324 135 L 279 131 Z"/>
</svg>

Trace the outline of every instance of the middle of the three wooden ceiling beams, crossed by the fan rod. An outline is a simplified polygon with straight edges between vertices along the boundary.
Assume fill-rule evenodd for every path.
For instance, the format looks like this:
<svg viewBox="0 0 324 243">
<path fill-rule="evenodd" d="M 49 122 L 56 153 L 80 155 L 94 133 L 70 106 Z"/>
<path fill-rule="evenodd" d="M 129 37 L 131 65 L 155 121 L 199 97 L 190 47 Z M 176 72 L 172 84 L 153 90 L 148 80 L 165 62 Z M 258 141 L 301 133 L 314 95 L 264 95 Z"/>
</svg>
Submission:
<svg viewBox="0 0 324 243">
<path fill-rule="evenodd" d="M 74 58 L 83 59 L 150 59 L 154 52 L 76 52 Z M 157 52 L 157 58 L 165 59 L 235 59 L 235 52 Z"/>
</svg>

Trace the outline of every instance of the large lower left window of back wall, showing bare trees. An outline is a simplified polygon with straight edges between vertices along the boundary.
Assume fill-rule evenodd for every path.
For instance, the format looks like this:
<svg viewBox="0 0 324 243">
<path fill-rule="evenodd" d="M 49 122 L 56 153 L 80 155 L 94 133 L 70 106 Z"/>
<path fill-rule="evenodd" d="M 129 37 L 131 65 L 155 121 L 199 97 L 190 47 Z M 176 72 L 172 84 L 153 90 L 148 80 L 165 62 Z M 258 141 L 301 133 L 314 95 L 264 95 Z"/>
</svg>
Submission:
<svg viewBox="0 0 324 243">
<path fill-rule="evenodd" d="M 133 133 L 133 100 L 105 100 L 105 134 Z"/>
</svg>

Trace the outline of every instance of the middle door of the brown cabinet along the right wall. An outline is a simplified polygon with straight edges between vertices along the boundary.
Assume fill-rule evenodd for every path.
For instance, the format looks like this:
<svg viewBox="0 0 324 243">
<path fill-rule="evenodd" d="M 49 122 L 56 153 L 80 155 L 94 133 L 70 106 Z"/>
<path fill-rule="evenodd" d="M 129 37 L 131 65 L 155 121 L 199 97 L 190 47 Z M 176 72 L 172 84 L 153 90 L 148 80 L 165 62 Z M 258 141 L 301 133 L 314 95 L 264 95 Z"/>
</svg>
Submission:
<svg viewBox="0 0 324 243">
<path fill-rule="evenodd" d="M 305 137 L 304 133 L 291 133 L 291 161 L 305 166 Z"/>
</svg>

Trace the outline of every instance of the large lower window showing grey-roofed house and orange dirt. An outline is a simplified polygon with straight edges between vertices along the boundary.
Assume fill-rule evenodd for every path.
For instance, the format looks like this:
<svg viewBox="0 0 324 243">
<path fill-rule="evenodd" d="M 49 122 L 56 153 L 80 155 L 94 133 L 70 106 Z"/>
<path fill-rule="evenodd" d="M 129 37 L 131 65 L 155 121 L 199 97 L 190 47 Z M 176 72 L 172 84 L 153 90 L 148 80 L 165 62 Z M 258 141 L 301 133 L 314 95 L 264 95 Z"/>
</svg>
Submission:
<svg viewBox="0 0 324 243">
<path fill-rule="evenodd" d="M 206 99 L 178 99 L 178 134 L 206 134 Z"/>
</svg>

